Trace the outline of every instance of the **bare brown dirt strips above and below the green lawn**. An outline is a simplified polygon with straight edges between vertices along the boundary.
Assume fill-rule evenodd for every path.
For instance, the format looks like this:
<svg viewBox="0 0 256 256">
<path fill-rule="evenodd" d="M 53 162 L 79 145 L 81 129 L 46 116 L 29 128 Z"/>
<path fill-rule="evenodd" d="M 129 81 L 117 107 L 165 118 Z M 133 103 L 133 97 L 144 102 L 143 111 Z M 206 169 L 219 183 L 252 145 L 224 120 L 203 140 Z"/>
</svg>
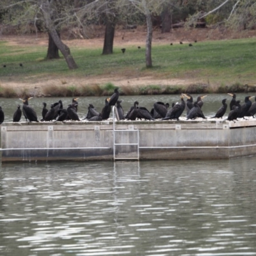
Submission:
<svg viewBox="0 0 256 256">
<path fill-rule="evenodd" d="M 104 28 L 95 27 L 92 29 L 90 39 L 74 39 L 74 32 L 65 33 L 62 35 L 63 42 L 68 45 L 68 47 L 86 47 L 95 48 L 103 47 L 104 42 Z M 147 29 L 144 26 L 140 26 L 136 29 L 125 30 L 122 28 L 117 28 L 115 32 L 114 48 L 115 47 L 125 47 L 126 45 L 145 45 L 145 38 L 147 35 Z M 205 40 L 227 40 L 231 38 L 248 38 L 256 36 L 256 30 L 251 31 L 229 31 L 225 28 L 179 28 L 173 29 L 170 33 L 161 33 L 161 29 L 154 29 L 152 45 L 156 44 L 179 44 L 182 41 L 184 44 Z M 77 36 L 79 37 L 79 36 Z M 72 38 L 72 39 L 71 39 Z M 38 35 L 0 35 L 0 40 L 7 40 L 8 44 L 11 45 L 44 45 L 47 47 L 48 36 L 47 34 Z M 46 53 L 45 49 L 45 53 Z M 31 90 L 41 90 L 47 85 L 61 85 L 61 77 L 47 77 L 37 79 L 36 83 L 28 82 L 20 83 L 19 81 L 1 81 L 1 86 L 11 86 L 12 88 L 28 88 Z M 105 84 L 111 82 L 117 86 L 145 86 L 147 84 L 158 84 L 158 85 L 188 85 L 192 83 L 201 83 L 201 81 L 195 81 L 195 79 L 159 79 L 159 77 L 154 76 L 143 76 L 143 77 L 125 77 L 109 75 L 107 77 L 86 77 L 84 78 L 72 78 L 65 77 L 65 81 L 68 84 L 73 84 L 79 86 L 79 84 Z M 38 93 L 38 92 L 37 92 Z"/>
</svg>

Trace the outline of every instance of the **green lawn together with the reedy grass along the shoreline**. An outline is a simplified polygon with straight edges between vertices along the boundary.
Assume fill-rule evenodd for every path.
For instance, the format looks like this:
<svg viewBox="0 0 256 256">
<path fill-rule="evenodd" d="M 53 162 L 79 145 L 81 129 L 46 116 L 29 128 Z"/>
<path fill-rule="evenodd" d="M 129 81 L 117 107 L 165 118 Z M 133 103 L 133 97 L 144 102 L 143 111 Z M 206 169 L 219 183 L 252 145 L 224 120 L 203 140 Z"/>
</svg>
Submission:
<svg viewBox="0 0 256 256">
<path fill-rule="evenodd" d="M 68 43 L 67 43 L 68 44 Z M 115 45 L 114 45 L 115 46 Z M 79 68 L 68 70 L 63 58 L 45 61 L 46 47 L 40 45 L 17 46 L 0 42 L 0 96 L 17 97 L 28 95 L 28 88 L 15 90 L 6 86 L 9 81 L 17 83 L 36 83 L 38 79 L 58 77 L 58 86 L 44 86 L 44 95 L 81 96 L 108 95 L 113 93 L 110 83 L 85 84 L 89 77 L 141 77 L 152 76 L 156 79 L 186 79 L 189 85 L 161 85 L 152 83 L 139 86 L 123 86 L 122 93 L 159 94 L 159 93 L 211 93 L 243 92 L 243 84 L 255 84 L 256 38 L 205 41 L 188 44 L 153 45 L 153 68 L 145 68 L 145 49 L 141 44 L 114 47 L 114 53 L 102 56 L 102 49 L 82 49 L 70 47 L 72 56 Z M 22 67 L 20 67 L 22 63 Z M 6 67 L 3 67 L 6 65 Z M 67 83 L 67 77 L 81 79 L 79 85 Z"/>
</svg>

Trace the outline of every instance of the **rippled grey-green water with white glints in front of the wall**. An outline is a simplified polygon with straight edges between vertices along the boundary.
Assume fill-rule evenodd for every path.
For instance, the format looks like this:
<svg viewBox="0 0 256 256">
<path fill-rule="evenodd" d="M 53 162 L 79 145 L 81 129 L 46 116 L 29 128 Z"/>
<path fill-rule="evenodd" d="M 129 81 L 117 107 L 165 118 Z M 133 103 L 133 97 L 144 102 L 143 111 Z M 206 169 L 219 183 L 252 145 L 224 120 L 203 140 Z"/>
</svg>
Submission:
<svg viewBox="0 0 256 256">
<path fill-rule="evenodd" d="M 256 255 L 255 157 L 3 164 L 0 255 Z"/>
</svg>

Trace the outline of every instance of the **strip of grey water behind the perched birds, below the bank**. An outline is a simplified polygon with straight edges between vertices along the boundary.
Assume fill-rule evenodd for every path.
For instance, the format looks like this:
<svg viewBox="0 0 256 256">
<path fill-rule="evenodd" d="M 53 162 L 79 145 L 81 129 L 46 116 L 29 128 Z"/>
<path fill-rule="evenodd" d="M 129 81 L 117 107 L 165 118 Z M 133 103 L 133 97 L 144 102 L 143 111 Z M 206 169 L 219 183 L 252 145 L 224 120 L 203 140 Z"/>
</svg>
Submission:
<svg viewBox="0 0 256 256">
<path fill-rule="evenodd" d="M 249 93 L 250 94 L 250 93 Z M 237 100 L 241 100 L 241 104 L 244 102 L 244 97 L 248 94 L 244 93 L 237 93 Z M 192 95 L 194 101 L 198 97 L 198 95 Z M 84 118 L 88 111 L 88 104 L 93 104 L 97 111 L 101 111 L 106 97 L 80 97 L 78 102 L 78 115 L 79 118 Z M 135 100 L 138 100 L 140 106 L 143 106 L 147 108 L 149 111 L 153 107 L 154 102 L 162 101 L 162 102 L 168 102 L 170 106 L 172 106 L 172 102 L 178 102 L 180 101 L 179 95 L 134 95 L 134 96 L 120 96 L 120 99 L 122 99 L 122 106 L 124 108 L 124 112 L 127 113 L 127 111 L 133 106 L 133 103 Z M 221 100 L 227 99 L 227 104 L 229 106 L 230 100 L 232 97 L 228 96 L 227 93 L 212 93 L 207 95 L 207 97 L 204 98 L 204 106 L 202 107 L 202 111 L 204 112 L 205 116 L 214 116 L 218 109 L 222 106 Z M 29 100 L 29 105 L 33 106 L 35 109 L 38 120 L 42 118 L 42 102 L 47 103 L 47 109 L 51 108 L 51 104 L 54 102 L 58 102 L 60 98 L 56 97 L 49 97 L 49 98 L 34 98 Z M 68 104 L 72 102 L 72 97 L 65 97 L 61 98 L 63 101 L 63 107 L 67 108 Z M 254 100 L 253 100 L 254 102 Z M 17 109 L 17 104 L 20 104 L 22 106 L 22 101 L 19 99 L 1 99 L 1 106 L 4 111 L 4 122 L 12 122 L 13 120 L 13 113 Z M 227 109 L 228 115 L 229 108 Z M 186 116 L 186 111 L 184 111 L 182 116 Z M 22 116 L 21 121 L 25 121 L 24 116 Z"/>
</svg>

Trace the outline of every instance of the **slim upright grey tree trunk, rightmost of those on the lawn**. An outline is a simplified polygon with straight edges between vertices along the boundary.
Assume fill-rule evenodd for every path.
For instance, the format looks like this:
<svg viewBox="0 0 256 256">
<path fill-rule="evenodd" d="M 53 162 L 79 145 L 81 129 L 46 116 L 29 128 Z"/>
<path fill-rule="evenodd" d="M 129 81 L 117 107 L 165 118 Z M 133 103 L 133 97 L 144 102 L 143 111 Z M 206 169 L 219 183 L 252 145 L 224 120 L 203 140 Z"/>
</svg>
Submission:
<svg viewBox="0 0 256 256">
<path fill-rule="evenodd" d="M 150 11 L 147 7 L 146 0 L 142 0 L 145 16 L 147 20 L 147 40 L 146 40 L 146 67 L 152 67 L 151 49 L 152 49 L 152 37 L 153 37 L 153 26 Z"/>
</svg>

